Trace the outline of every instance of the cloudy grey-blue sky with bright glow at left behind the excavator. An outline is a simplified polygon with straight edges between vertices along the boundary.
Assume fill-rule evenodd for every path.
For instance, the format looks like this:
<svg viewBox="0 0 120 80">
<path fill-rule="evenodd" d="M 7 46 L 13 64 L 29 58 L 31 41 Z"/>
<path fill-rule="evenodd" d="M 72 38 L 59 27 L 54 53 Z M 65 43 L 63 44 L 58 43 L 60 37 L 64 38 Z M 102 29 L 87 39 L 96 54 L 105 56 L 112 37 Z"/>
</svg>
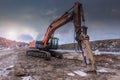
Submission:
<svg viewBox="0 0 120 80">
<path fill-rule="evenodd" d="M 120 0 L 0 0 L 0 37 L 42 40 L 47 27 L 76 1 L 83 4 L 90 40 L 120 38 Z M 59 44 L 74 42 L 73 22 L 55 31 Z"/>
</svg>

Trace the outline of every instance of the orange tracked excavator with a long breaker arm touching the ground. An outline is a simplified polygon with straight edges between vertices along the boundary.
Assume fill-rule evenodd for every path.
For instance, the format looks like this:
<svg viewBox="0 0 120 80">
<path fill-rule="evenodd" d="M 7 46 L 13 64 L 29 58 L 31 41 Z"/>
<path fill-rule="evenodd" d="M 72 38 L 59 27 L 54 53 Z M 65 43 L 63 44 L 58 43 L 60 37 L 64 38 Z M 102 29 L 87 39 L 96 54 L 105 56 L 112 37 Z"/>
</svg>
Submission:
<svg viewBox="0 0 120 80">
<path fill-rule="evenodd" d="M 49 51 L 58 48 L 59 39 L 54 37 L 55 30 L 71 21 L 75 28 L 75 40 L 85 56 L 84 59 L 88 66 L 87 71 L 96 71 L 95 59 L 89 42 L 89 36 L 87 35 L 87 27 L 82 25 L 85 23 L 85 18 L 80 2 L 75 2 L 68 11 L 49 25 L 42 41 L 30 42 L 27 54 L 40 53 L 41 57 L 50 58 L 51 54 Z"/>
</svg>

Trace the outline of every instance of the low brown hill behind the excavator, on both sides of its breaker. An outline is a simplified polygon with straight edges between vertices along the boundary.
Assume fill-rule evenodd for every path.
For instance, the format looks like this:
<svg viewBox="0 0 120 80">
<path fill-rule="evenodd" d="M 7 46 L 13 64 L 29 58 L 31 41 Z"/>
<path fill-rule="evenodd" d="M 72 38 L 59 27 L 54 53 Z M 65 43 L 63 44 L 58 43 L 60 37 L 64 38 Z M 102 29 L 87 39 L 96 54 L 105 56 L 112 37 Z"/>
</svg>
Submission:
<svg viewBox="0 0 120 80">
<path fill-rule="evenodd" d="M 90 42 L 92 50 L 100 51 L 120 51 L 120 39 L 96 40 Z M 63 44 L 59 49 L 73 50 L 77 46 L 75 43 Z"/>
</svg>

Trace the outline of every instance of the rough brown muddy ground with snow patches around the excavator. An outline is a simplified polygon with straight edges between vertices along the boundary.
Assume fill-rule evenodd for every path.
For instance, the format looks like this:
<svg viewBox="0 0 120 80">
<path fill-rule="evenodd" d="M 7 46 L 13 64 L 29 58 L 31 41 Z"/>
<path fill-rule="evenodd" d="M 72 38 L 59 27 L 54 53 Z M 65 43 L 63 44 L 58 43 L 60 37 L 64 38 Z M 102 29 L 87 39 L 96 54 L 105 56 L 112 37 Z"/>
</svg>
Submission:
<svg viewBox="0 0 120 80">
<path fill-rule="evenodd" d="M 95 55 L 97 73 L 86 73 L 83 60 L 44 60 L 26 56 L 25 49 L 0 52 L 0 80 L 119 80 L 120 56 Z M 8 53 L 8 54 L 5 54 Z M 64 53 L 63 53 L 64 54 Z M 84 75 L 77 74 L 76 71 Z"/>
</svg>

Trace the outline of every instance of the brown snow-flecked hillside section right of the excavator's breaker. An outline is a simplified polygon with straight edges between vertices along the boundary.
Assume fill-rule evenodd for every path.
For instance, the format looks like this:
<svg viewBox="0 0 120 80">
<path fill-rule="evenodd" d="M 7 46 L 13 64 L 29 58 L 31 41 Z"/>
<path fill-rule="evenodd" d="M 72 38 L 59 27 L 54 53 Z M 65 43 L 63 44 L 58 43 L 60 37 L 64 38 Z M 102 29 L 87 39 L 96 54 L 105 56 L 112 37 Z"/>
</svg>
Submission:
<svg viewBox="0 0 120 80">
<path fill-rule="evenodd" d="M 98 40 L 92 41 L 91 46 L 93 50 L 100 51 L 120 51 L 120 39 Z"/>
</svg>

